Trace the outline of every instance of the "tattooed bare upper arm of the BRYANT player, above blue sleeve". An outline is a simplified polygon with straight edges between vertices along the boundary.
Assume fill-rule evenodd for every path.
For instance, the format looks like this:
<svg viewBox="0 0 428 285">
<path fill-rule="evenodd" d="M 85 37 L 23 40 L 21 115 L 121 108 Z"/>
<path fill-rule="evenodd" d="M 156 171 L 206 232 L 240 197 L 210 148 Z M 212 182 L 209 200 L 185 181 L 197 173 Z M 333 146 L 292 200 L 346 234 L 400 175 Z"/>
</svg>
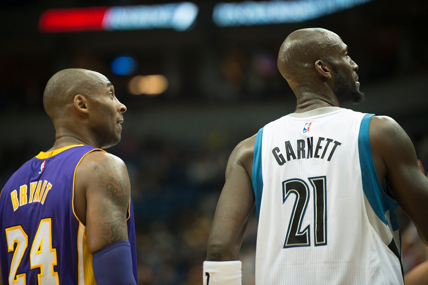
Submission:
<svg viewBox="0 0 428 285">
<path fill-rule="evenodd" d="M 77 167 L 75 180 L 75 191 L 86 200 L 86 213 L 81 216 L 89 251 L 128 240 L 126 216 L 131 187 L 125 163 L 112 154 L 93 151 Z"/>
</svg>

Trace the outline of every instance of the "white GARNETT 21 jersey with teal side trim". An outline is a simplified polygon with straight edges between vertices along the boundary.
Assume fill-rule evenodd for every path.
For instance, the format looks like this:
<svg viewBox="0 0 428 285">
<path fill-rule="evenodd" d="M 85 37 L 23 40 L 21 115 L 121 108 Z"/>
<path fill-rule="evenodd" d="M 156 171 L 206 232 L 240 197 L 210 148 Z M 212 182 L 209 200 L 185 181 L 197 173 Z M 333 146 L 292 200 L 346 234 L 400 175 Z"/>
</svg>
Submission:
<svg viewBox="0 0 428 285">
<path fill-rule="evenodd" d="M 397 203 L 377 178 L 373 114 L 324 107 L 260 129 L 256 284 L 404 284 Z"/>
</svg>

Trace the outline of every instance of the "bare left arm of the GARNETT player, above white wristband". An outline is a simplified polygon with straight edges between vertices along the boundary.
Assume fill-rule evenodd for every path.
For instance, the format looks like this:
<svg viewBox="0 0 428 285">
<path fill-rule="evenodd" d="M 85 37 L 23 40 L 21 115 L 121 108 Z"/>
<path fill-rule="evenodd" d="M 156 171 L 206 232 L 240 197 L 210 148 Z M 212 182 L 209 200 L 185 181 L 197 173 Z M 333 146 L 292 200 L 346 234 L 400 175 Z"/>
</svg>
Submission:
<svg viewBox="0 0 428 285">
<path fill-rule="evenodd" d="M 251 183 L 256 136 L 239 143 L 229 157 L 226 182 L 208 236 L 208 261 L 239 260 L 239 248 L 255 198 Z"/>
</svg>

